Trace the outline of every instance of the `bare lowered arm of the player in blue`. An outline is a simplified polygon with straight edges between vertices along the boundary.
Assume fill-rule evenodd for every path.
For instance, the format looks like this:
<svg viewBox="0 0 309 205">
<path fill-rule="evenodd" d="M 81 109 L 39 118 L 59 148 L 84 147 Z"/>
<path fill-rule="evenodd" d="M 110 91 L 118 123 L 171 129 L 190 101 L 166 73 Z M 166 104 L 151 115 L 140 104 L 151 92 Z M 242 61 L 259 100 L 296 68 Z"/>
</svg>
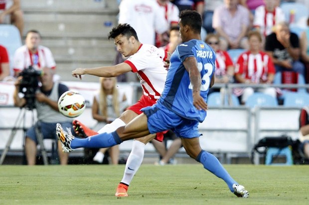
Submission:
<svg viewBox="0 0 309 205">
<path fill-rule="evenodd" d="M 184 68 L 189 72 L 190 82 L 192 84 L 193 105 L 198 110 L 207 110 L 207 104 L 200 96 L 201 90 L 201 74 L 197 68 L 195 57 L 188 57 L 183 62 Z"/>
</svg>

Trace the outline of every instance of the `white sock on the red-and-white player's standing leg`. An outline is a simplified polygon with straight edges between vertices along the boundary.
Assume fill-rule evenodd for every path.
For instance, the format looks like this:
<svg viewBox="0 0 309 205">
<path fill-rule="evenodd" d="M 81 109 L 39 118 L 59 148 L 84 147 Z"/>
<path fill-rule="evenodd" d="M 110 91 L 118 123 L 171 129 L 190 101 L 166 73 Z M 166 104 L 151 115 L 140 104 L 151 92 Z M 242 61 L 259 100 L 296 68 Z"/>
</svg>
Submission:
<svg viewBox="0 0 309 205">
<path fill-rule="evenodd" d="M 138 140 L 133 141 L 132 151 L 126 163 L 124 177 L 121 182 L 127 185 L 130 184 L 134 175 L 139 170 L 144 158 L 145 144 Z"/>
</svg>

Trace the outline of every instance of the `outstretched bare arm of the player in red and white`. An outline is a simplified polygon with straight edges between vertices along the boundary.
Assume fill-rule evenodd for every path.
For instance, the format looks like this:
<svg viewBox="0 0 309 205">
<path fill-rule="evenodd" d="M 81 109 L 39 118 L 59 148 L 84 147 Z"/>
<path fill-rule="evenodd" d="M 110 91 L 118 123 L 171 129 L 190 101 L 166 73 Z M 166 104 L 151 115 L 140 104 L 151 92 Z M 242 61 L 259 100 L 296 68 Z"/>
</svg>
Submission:
<svg viewBox="0 0 309 205">
<path fill-rule="evenodd" d="M 76 68 L 72 71 L 73 77 L 79 77 L 82 79 L 82 75 L 96 75 L 99 77 L 115 77 L 122 73 L 131 71 L 132 68 L 129 64 L 121 63 L 116 66 L 105 66 L 105 67 L 97 67 L 97 68 Z"/>
</svg>

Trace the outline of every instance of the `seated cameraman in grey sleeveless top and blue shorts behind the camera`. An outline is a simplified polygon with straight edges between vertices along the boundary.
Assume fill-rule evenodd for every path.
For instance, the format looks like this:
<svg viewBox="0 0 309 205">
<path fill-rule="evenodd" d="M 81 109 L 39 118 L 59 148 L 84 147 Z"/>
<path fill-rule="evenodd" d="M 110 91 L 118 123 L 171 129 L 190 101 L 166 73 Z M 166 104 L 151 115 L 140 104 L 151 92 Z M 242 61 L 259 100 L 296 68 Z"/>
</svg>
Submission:
<svg viewBox="0 0 309 205">
<path fill-rule="evenodd" d="M 59 113 L 58 99 L 66 91 L 68 87 L 58 81 L 53 81 L 54 70 L 51 68 L 42 68 L 40 82 L 42 86 L 34 96 L 34 105 L 37 112 L 38 121 L 26 132 L 25 138 L 25 153 L 28 165 L 36 163 L 36 145 L 38 143 L 36 128 L 38 128 L 43 138 L 57 139 L 55 127 L 58 122 L 63 126 L 72 128 L 72 120 Z M 14 105 L 25 107 L 29 103 L 30 98 L 20 97 L 19 89 L 22 76 L 19 76 L 15 81 L 15 91 L 13 95 Z M 68 154 L 62 152 L 61 143 L 58 141 L 58 154 L 60 164 L 68 163 Z"/>
</svg>

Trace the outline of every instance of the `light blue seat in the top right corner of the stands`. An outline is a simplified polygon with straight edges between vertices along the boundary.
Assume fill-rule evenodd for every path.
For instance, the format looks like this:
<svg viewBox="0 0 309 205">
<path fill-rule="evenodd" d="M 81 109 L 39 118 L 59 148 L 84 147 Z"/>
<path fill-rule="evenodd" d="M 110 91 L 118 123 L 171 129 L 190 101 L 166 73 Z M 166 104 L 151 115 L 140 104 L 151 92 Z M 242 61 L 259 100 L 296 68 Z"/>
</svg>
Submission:
<svg viewBox="0 0 309 205">
<path fill-rule="evenodd" d="M 302 17 L 308 16 L 309 9 L 303 4 L 298 2 L 283 2 L 280 7 L 285 13 L 286 20 L 290 22 L 291 11 L 295 12 L 295 22 L 297 23 Z"/>
</svg>

